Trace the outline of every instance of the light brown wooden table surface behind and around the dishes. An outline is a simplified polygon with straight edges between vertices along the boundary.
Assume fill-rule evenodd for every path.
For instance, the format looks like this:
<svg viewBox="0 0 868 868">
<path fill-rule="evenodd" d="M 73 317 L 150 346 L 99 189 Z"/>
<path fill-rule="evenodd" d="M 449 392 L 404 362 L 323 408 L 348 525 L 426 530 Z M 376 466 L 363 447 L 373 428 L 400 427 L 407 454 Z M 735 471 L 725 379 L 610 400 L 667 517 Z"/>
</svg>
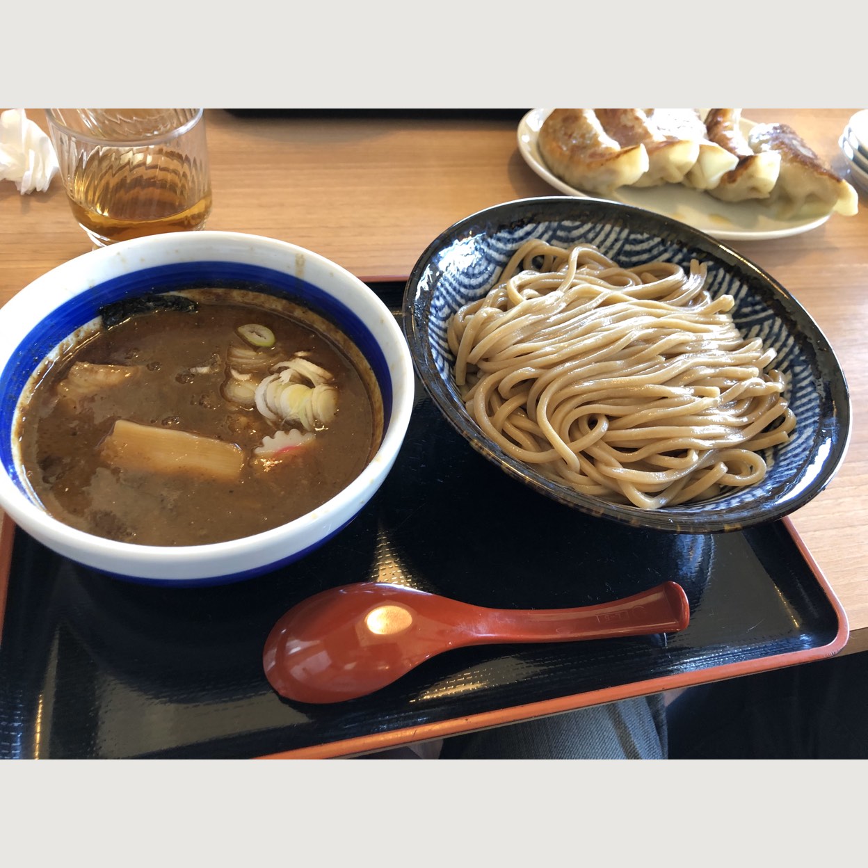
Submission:
<svg viewBox="0 0 868 868">
<path fill-rule="evenodd" d="M 788 122 L 842 173 L 838 136 L 856 109 L 746 109 Z M 43 112 L 28 116 L 45 129 Z M 210 229 L 307 247 L 363 279 L 402 279 L 453 222 L 499 202 L 552 195 L 516 148 L 516 122 L 436 118 L 237 116 L 207 111 Z M 845 463 L 793 524 L 843 603 L 845 653 L 868 649 L 868 201 L 854 217 L 785 239 L 727 242 L 806 307 L 844 367 L 853 404 Z M 22 196 L 0 184 L 0 304 L 89 242 L 58 181 Z"/>
</svg>

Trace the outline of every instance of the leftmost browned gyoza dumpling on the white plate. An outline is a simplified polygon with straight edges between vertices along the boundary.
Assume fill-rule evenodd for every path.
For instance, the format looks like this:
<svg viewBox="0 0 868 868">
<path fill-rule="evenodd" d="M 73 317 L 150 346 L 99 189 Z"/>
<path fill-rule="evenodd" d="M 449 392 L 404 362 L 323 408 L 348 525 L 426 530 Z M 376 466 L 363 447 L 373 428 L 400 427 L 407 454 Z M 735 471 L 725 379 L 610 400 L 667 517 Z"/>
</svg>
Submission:
<svg viewBox="0 0 868 868">
<path fill-rule="evenodd" d="M 606 196 L 648 171 L 643 145 L 621 148 L 593 109 L 554 109 L 536 139 L 542 160 L 570 187 Z"/>
</svg>

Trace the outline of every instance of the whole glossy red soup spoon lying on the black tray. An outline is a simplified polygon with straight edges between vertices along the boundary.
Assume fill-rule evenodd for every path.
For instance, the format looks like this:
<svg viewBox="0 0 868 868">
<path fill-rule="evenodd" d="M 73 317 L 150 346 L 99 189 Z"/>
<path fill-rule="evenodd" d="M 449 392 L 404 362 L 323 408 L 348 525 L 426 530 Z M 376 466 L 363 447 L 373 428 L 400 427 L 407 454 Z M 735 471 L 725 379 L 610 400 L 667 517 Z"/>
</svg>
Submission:
<svg viewBox="0 0 868 868">
<path fill-rule="evenodd" d="M 372 694 L 452 648 L 674 633 L 690 620 L 681 585 L 582 608 L 471 606 L 400 585 L 363 582 L 313 595 L 283 615 L 262 654 L 287 699 L 341 702 Z"/>
</svg>

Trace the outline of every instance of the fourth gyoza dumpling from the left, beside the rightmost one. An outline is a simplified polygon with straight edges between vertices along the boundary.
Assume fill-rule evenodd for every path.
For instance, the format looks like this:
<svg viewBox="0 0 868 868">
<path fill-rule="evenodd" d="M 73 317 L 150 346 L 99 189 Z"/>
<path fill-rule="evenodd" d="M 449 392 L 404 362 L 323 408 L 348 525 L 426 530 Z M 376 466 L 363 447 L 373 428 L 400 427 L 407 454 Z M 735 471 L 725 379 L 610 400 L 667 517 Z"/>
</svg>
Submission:
<svg viewBox="0 0 868 868">
<path fill-rule="evenodd" d="M 711 109 L 706 115 L 709 140 L 739 160 L 708 193 L 725 202 L 767 199 L 778 181 L 780 155 L 775 151 L 754 154 L 739 128 L 740 118 L 740 109 Z"/>
</svg>

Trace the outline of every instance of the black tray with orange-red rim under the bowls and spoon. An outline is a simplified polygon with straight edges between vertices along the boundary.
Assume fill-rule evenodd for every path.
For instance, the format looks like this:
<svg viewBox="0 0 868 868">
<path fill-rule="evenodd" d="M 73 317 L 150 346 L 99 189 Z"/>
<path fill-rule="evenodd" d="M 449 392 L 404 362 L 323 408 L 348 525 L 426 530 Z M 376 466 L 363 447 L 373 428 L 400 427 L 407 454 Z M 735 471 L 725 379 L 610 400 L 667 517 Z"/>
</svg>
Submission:
<svg viewBox="0 0 868 868">
<path fill-rule="evenodd" d="M 403 285 L 375 286 L 398 311 Z M 121 582 L 7 520 L 0 757 L 351 755 L 843 648 L 843 610 L 788 520 L 694 536 L 583 516 L 496 470 L 421 388 L 417 398 L 398 461 L 358 518 L 303 561 L 247 582 Z M 377 694 L 325 706 L 281 699 L 262 671 L 274 622 L 333 585 L 402 582 L 483 606 L 557 608 L 665 579 L 690 602 L 681 634 L 453 650 Z"/>
</svg>

